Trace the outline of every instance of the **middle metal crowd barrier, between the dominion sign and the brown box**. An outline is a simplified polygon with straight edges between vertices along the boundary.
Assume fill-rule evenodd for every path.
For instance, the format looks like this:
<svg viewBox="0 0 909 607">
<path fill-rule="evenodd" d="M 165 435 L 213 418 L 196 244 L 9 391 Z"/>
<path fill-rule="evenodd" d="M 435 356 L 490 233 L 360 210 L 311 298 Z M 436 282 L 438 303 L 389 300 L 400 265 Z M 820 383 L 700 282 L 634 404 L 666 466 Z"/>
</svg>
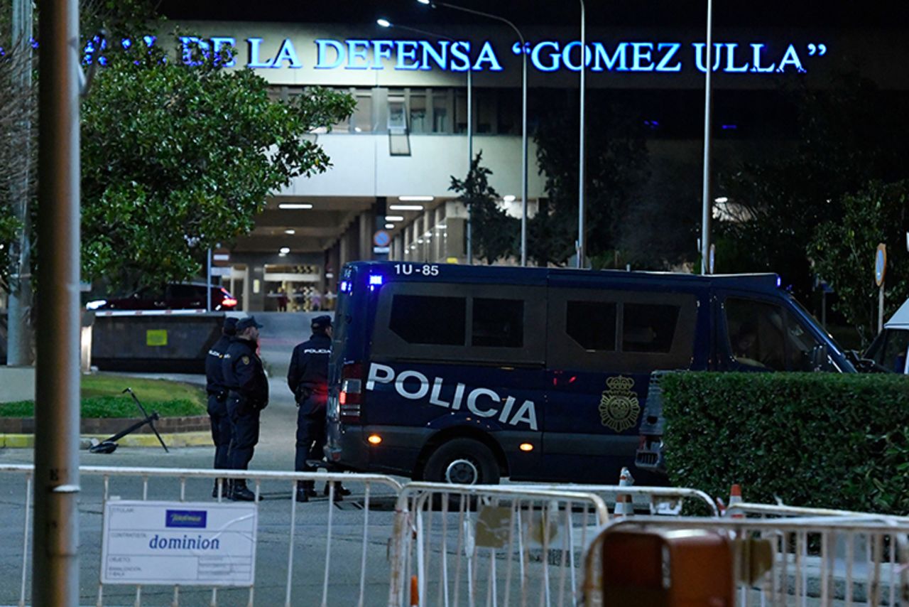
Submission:
<svg viewBox="0 0 909 607">
<path fill-rule="evenodd" d="M 395 510 L 389 607 L 577 604 L 575 561 L 609 517 L 593 493 L 521 485 L 414 482 Z"/>
</svg>

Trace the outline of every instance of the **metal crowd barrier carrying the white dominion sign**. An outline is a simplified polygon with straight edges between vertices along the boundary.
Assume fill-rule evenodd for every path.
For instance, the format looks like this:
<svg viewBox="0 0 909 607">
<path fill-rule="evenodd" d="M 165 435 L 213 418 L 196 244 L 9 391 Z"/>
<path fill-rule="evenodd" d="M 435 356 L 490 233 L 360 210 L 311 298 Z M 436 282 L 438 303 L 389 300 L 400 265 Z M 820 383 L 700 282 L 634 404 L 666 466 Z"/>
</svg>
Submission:
<svg viewBox="0 0 909 607">
<path fill-rule="evenodd" d="M 34 468 L 31 465 L 8 465 L 0 464 L 0 479 L 9 475 L 18 475 L 21 477 L 25 494 L 19 501 L 15 496 L 5 498 L 4 505 L 4 526 L 7 531 L 13 532 L 15 528 L 16 511 L 18 517 L 23 522 L 23 542 L 21 561 L 15 551 L 5 551 L 6 554 L 0 556 L 0 564 L 3 564 L 5 578 L 13 579 L 12 572 L 18 569 L 18 576 L 15 579 L 19 582 L 18 602 L 14 604 L 20 607 L 28 604 L 29 599 L 29 541 L 30 541 L 30 524 L 31 524 L 31 497 Z M 263 536 L 268 535 L 268 550 L 284 550 L 287 557 L 285 562 L 285 585 L 283 589 L 276 587 L 266 588 L 268 592 L 260 597 L 259 604 L 376 604 L 375 598 L 367 592 L 367 585 L 380 584 L 383 588 L 389 580 L 390 572 L 388 563 L 385 558 L 385 550 L 381 550 L 380 558 L 376 557 L 375 544 L 385 544 L 388 539 L 386 529 L 390 529 L 393 523 L 394 515 L 391 512 L 391 504 L 394 503 L 396 496 L 401 491 L 401 484 L 391 477 L 373 475 L 373 474 L 344 474 L 329 472 L 274 472 L 260 470 L 187 470 L 187 469 L 164 469 L 164 468 L 112 468 L 103 466 L 81 466 L 79 468 L 83 486 L 82 499 L 80 500 L 80 568 L 82 591 L 84 597 L 87 596 L 85 581 L 94 578 L 97 581 L 95 604 L 101 607 L 105 604 L 125 604 L 130 603 L 135 607 L 140 607 L 144 601 L 144 590 L 148 594 L 154 590 L 154 597 L 149 598 L 150 602 L 160 602 L 162 600 L 163 589 L 155 587 L 146 589 L 141 585 L 112 585 L 101 583 L 101 532 L 98 525 L 92 519 L 92 515 L 97 515 L 96 510 L 99 499 L 89 498 L 89 494 L 100 496 L 101 512 L 105 511 L 105 505 L 108 501 L 118 500 L 163 500 L 163 501 L 187 501 L 191 498 L 193 501 L 205 501 L 215 503 L 222 501 L 223 497 L 219 495 L 213 501 L 211 491 L 215 486 L 215 479 L 246 479 L 249 487 L 257 496 L 264 496 L 265 501 L 259 502 L 260 510 L 267 508 L 269 511 L 275 511 L 275 519 L 278 519 L 275 525 L 269 527 L 271 523 L 260 520 L 259 522 L 259 543 L 263 543 Z M 6 480 L 6 479 L 5 479 Z M 297 481 L 314 481 L 317 489 L 322 488 L 323 483 L 328 484 L 329 496 L 325 501 L 315 499 L 307 504 L 298 504 L 293 500 Z M 353 491 L 354 495 L 346 498 L 345 501 L 355 499 L 356 507 L 351 509 L 340 510 L 335 507 L 336 483 L 344 482 L 345 487 Z M 220 484 L 220 483 L 218 483 Z M 12 491 L 13 484 L 5 482 L 3 485 L 7 491 Z M 100 485 L 92 487 L 89 491 L 86 488 L 90 485 Z M 201 491 L 200 491 L 201 490 Z M 276 491 L 275 491 L 276 490 Z M 289 490 L 289 491 L 288 491 Z M 291 500 L 287 501 L 288 493 Z M 275 501 L 280 499 L 281 501 Z M 375 501 L 385 500 L 388 502 L 388 512 L 382 512 L 372 509 Z M 340 505 L 340 504 L 339 504 Z M 307 516 L 325 516 L 325 526 L 320 528 L 324 532 L 321 537 L 315 537 L 311 533 L 305 535 L 297 533 L 297 518 L 300 511 L 305 509 Z M 323 514 L 319 514 L 319 512 Z M 378 524 L 376 524 L 378 519 Z M 384 521 L 383 521 L 384 520 Z M 383 522 L 385 529 L 383 529 Z M 320 525 L 321 527 L 321 525 Z M 312 530 L 312 527 L 309 528 Z M 274 536 L 274 538 L 272 537 Z M 273 547 L 272 544 L 277 546 Z M 280 548 L 284 544 L 283 549 Z M 356 561 L 348 559 L 339 561 L 341 557 L 335 554 L 333 559 L 333 548 L 337 551 L 339 545 L 349 547 L 351 543 L 359 543 L 358 558 Z M 373 550 L 367 550 L 373 546 Z M 295 551 L 300 550 L 313 551 L 318 556 L 311 559 L 305 567 L 295 563 Z M 260 551 L 262 548 L 260 547 Z M 97 558 L 95 559 L 95 552 Z M 372 557 L 371 559 L 368 557 Z M 259 555 L 261 558 L 261 555 Z M 15 562 L 14 562 L 15 561 Z M 314 566 L 315 563 L 315 566 Z M 296 564 L 296 566 L 295 566 Z M 342 573 L 350 580 L 352 572 L 359 572 L 358 587 L 356 590 L 348 588 L 352 585 L 345 582 L 343 597 L 330 597 L 330 584 L 334 583 L 332 589 L 335 594 L 340 592 L 335 580 L 335 576 Z M 10 572 L 10 573 L 6 573 Z M 261 573 L 261 572 L 260 572 Z M 274 574 L 274 572 L 272 572 Z M 334 576 L 333 576 L 334 574 Z M 261 576 L 257 576 L 261 577 Z M 295 588 L 299 594 L 299 583 L 307 582 L 310 592 L 307 596 L 295 595 Z M 315 582 L 320 581 L 321 583 Z M 315 582 L 315 583 L 308 583 Z M 273 585 L 274 586 L 274 585 Z M 131 590 L 132 589 L 132 590 Z M 0 586 L 2 590 L 2 586 Z M 283 592 L 282 592 L 283 590 Z M 321 592 L 319 592 L 321 591 Z M 384 591 L 383 591 L 384 593 Z M 220 596 L 219 596 L 220 595 Z M 174 584 L 172 587 L 172 597 L 166 602 L 173 606 L 181 603 L 184 604 L 221 604 L 253 605 L 255 597 L 255 586 L 243 588 L 224 588 L 195 586 L 181 586 Z M 0 604 L 7 604 L 7 599 L 0 594 Z M 15 599 L 13 599 L 15 600 Z M 331 602 L 330 602 L 331 601 Z M 147 602 L 146 602 L 147 604 Z"/>
</svg>

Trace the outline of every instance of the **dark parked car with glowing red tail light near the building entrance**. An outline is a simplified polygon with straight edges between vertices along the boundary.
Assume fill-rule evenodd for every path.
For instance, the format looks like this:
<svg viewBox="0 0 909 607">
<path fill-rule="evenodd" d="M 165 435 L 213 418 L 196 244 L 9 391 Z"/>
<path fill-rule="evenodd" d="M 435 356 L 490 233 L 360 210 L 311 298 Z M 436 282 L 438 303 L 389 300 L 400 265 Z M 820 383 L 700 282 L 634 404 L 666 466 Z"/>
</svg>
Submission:
<svg viewBox="0 0 909 607">
<path fill-rule="evenodd" d="M 236 307 L 236 298 L 218 285 L 205 283 L 171 283 L 160 287 L 144 287 L 125 298 L 95 299 L 86 304 L 87 309 L 206 309 L 208 293 L 212 309 L 229 311 Z"/>
</svg>

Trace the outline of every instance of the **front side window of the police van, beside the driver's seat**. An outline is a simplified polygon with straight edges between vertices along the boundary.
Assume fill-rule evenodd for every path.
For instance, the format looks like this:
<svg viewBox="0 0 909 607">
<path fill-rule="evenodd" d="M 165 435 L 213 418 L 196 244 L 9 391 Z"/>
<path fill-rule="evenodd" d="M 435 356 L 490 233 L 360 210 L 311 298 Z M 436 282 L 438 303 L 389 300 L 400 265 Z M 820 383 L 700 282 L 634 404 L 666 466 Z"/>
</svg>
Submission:
<svg viewBox="0 0 909 607">
<path fill-rule="evenodd" d="M 739 363 L 756 369 L 786 369 L 783 309 L 753 299 L 728 298 L 726 331 Z"/>
</svg>

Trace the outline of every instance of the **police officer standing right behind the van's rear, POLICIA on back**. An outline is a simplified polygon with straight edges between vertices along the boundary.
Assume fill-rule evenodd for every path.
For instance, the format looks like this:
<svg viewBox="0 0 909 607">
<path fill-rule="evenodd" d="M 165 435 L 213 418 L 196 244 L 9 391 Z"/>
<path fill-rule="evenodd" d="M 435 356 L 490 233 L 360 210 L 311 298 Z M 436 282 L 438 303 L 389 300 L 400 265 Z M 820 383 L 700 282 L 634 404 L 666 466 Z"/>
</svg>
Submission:
<svg viewBox="0 0 909 607">
<path fill-rule="evenodd" d="M 332 318 L 317 316 L 311 325 L 313 334 L 294 349 L 287 369 L 287 386 L 294 392 L 296 415 L 296 457 L 294 470 L 311 471 L 306 460 L 325 457 L 325 405 L 328 401 L 328 355 L 332 346 Z M 325 494 L 328 487 L 325 486 Z M 335 500 L 349 495 L 338 483 Z M 315 496 L 313 481 L 303 481 L 296 488 L 296 501 L 309 501 Z"/>
</svg>

